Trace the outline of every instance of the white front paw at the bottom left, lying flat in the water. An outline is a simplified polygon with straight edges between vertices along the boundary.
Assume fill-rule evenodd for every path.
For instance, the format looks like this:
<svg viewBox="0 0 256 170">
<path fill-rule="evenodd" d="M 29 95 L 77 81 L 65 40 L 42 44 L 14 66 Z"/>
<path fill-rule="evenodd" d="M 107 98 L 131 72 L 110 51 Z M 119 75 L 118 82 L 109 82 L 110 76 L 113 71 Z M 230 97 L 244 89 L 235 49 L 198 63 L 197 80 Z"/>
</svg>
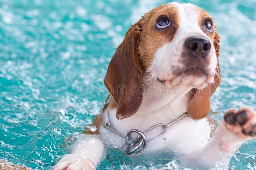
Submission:
<svg viewBox="0 0 256 170">
<path fill-rule="evenodd" d="M 52 168 L 52 170 L 94 170 L 94 163 L 76 154 L 67 154 Z"/>
</svg>

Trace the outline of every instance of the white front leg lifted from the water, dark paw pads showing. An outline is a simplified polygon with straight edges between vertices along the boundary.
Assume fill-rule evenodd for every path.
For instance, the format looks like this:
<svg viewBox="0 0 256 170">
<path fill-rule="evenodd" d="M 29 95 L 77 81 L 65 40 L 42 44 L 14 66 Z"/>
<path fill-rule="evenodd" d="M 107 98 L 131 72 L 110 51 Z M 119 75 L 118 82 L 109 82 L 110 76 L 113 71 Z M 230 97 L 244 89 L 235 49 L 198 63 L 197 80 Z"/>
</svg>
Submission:
<svg viewBox="0 0 256 170">
<path fill-rule="evenodd" d="M 183 159 L 183 162 L 192 167 L 214 167 L 223 154 L 228 156 L 229 161 L 238 147 L 252 138 L 256 138 L 256 112 L 252 108 L 230 109 L 210 142 L 200 152 Z"/>
</svg>

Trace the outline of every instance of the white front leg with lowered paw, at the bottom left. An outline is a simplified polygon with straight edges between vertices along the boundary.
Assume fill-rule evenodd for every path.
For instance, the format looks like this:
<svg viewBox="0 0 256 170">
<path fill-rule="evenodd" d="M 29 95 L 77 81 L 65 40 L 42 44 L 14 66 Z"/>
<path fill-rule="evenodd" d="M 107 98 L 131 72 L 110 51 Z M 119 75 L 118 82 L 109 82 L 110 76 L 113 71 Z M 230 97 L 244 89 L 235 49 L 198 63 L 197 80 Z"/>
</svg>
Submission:
<svg viewBox="0 0 256 170">
<path fill-rule="evenodd" d="M 78 141 L 70 154 L 64 155 L 52 168 L 53 170 L 96 169 L 100 157 L 103 155 L 104 145 L 95 136 L 88 136 L 85 140 Z"/>
</svg>

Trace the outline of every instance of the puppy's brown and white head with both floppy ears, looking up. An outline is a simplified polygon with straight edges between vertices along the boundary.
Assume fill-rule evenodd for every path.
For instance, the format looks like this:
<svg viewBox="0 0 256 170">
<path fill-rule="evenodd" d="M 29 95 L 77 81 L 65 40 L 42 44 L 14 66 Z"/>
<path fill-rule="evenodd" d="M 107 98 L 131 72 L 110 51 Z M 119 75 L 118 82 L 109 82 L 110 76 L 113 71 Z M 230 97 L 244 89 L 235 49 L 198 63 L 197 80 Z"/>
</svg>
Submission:
<svg viewBox="0 0 256 170">
<path fill-rule="evenodd" d="M 220 84 L 219 42 L 212 18 L 195 5 L 163 4 L 146 13 L 126 32 L 108 66 L 105 85 L 117 104 L 116 117 L 139 109 L 144 72 L 163 85 L 191 88 L 188 114 L 205 117 Z"/>
</svg>

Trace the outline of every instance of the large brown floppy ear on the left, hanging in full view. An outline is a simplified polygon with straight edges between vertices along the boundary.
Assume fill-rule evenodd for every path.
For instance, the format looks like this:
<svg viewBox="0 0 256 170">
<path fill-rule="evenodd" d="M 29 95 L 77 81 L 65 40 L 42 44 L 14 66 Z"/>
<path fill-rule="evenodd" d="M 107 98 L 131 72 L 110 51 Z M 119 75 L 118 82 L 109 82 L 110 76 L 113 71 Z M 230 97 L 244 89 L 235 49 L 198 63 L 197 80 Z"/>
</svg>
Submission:
<svg viewBox="0 0 256 170">
<path fill-rule="evenodd" d="M 137 24 L 132 25 L 126 32 L 124 41 L 117 47 L 105 76 L 105 86 L 117 104 L 118 119 L 132 116 L 142 102 L 141 80 L 144 72 L 137 50 L 140 32 Z"/>
</svg>

